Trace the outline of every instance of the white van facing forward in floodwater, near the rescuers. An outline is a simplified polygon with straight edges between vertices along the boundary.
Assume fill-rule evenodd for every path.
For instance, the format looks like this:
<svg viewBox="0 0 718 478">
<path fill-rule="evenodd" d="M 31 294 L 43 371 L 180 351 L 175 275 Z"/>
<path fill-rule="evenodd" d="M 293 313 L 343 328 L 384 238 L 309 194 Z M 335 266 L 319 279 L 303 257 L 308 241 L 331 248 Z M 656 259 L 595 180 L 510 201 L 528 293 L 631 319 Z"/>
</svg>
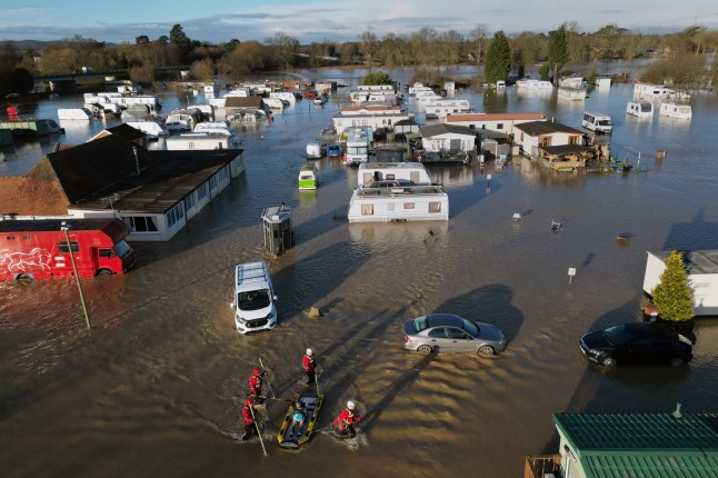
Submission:
<svg viewBox="0 0 718 478">
<path fill-rule="evenodd" d="M 235 269 L 235 325 L 240 333 L 277 327 L 277 296 L 267 262 L 240 263 Z"/>
</svg>

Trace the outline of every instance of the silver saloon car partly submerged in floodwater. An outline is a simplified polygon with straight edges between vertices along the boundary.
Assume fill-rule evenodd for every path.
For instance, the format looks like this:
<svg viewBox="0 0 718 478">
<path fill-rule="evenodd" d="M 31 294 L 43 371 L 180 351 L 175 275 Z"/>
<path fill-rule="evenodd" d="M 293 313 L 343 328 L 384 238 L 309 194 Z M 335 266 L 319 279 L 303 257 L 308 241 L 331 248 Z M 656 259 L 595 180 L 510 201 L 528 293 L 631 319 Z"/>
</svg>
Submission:
<svg viewBox="0 0 718 478">
<path fill-rule="evenodd" d="M 501 331 L 453 313 L 430 313 L 403 322 L 402 343 L 407 350 L 431 352 L 479 352 L 495 355 L 506 349 Z"/>
</svg>

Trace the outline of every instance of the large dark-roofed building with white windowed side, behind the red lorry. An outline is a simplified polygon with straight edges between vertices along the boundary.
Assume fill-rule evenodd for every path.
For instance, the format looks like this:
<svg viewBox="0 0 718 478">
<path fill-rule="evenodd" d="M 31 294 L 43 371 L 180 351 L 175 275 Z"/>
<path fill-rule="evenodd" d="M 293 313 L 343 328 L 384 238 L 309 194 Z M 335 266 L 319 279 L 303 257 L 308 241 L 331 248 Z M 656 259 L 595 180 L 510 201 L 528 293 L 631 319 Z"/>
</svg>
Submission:
<svg viewBox="0 0 718 478">
<path fill-rule="evenodd" d="M 148 151 L 107 135 L 59 148 L 23 178 L 0 178 L 0 213 L 117 217 L 130 240 L 166 241 L 243 170 L 240 149 Z"/>
</svg>

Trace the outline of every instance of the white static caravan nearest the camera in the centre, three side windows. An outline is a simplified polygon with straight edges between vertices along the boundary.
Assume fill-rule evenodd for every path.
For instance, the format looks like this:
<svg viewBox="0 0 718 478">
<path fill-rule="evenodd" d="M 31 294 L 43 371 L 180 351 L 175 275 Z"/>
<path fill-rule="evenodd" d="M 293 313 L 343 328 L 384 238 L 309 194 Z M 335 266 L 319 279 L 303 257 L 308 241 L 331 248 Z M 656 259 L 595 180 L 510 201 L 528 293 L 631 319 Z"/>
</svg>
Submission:
<svg viewBox="0 0 718 478">
<path fill-rule="evenodd" d="M 351 195 L 349 222 L 449 220 L 449 196 L 441 186 L 357 188 Z"/>
</svg>

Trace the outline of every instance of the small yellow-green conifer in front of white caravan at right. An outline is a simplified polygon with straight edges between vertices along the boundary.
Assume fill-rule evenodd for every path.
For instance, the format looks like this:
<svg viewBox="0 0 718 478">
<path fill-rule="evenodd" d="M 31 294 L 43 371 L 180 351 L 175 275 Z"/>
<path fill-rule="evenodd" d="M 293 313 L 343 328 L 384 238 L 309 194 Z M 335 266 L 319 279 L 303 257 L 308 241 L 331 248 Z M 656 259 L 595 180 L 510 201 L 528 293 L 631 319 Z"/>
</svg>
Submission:
<svg viewBox="0 0 718 478">
<path fill-rule="evenodd" d="M 651 290 L 654 305 L 665 320 L 682 321 L 694 317 L 694 297 L 688 285 L 684 255 L 671 251 L 666 258 L 666 270 L 660 282 Z"/>
</svg>

